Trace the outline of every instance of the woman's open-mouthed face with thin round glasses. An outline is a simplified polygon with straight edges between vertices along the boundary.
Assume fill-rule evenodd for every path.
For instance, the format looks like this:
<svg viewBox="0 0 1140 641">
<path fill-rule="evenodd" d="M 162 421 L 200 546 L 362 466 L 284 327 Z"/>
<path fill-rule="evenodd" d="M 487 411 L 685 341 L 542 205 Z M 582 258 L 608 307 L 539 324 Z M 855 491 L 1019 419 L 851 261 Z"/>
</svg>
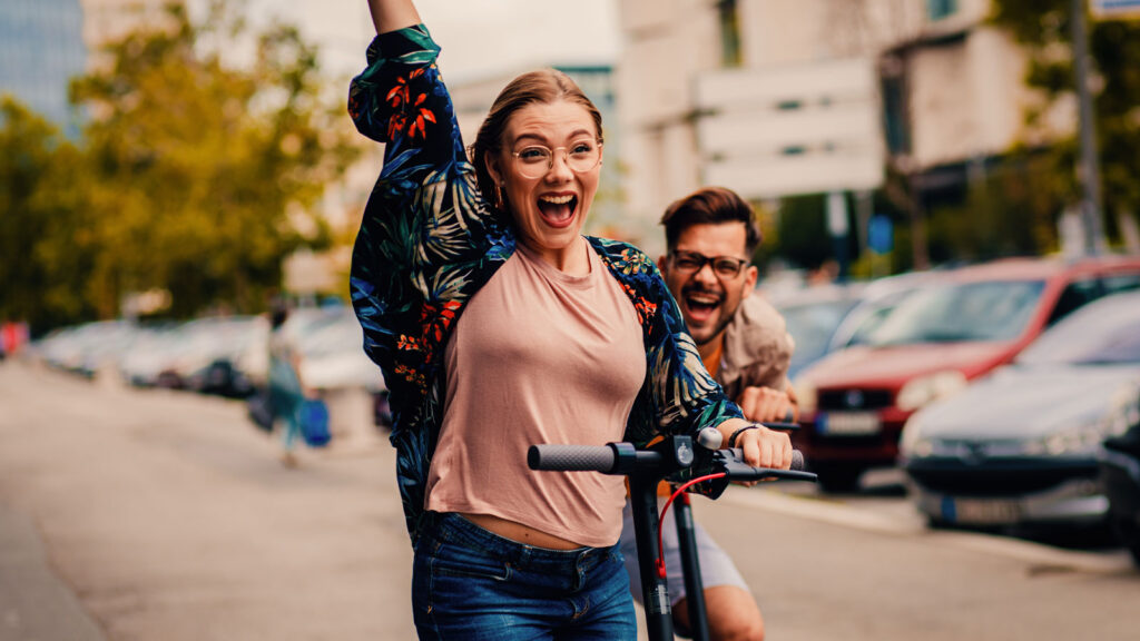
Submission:
<svg viewBox="0 0 1140 641">
<path fill-rule="evenodd" d="M 560 266 L 577 248 L 601 176 L 598 132 L 586 107 L 534 103 L 507 120 L 503 148 L 488 159 L 520 240 Z M 542 147 L 553 152 L 544 156 Z M 596 152 L 597 162 L 584 162 Z M 549 157 L 549 165 L 545 157 Z"/>
</svg>

